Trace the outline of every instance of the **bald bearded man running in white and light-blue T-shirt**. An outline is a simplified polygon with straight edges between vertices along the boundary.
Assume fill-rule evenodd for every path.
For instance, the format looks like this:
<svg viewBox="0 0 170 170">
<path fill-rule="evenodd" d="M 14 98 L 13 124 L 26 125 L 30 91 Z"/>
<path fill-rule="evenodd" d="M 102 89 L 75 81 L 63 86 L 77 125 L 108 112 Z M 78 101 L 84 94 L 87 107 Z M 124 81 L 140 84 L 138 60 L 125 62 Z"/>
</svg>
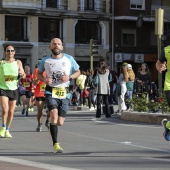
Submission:
<svg viewBox="0 0 170 170">
<path fill-rule="evenodd" d="M 54 153 L 62 153 L 58 143 L 58 126 L 64 124 L 69 105 L 69 85 L 72 79 L 80 75 L 79 65 L 75 59 L 62 53 L 63 45 L 59 38 L 50 43 L 51 55 L 42 59 L 38 65 L 37 78 L 46 83 L 45 99 L 50 111 L 50 133 Z M 46 71 L 46 78 L 43 72 Z"/>
</svg>

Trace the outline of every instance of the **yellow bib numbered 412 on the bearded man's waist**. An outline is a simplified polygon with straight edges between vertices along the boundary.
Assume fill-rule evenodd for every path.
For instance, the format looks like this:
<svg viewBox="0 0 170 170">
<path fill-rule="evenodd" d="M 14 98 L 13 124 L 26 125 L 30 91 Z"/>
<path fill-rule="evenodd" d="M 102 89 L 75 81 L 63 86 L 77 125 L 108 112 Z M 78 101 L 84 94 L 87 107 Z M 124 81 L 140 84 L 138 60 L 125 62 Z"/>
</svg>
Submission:
<svg viewBox="0 0 170 170">
<path fill-rule="evenodd" d="M 64 87 L 53 87 L 52 88 L 52 97 L 57 99 L 66 98 L 66 89 Z"/>
</svg>

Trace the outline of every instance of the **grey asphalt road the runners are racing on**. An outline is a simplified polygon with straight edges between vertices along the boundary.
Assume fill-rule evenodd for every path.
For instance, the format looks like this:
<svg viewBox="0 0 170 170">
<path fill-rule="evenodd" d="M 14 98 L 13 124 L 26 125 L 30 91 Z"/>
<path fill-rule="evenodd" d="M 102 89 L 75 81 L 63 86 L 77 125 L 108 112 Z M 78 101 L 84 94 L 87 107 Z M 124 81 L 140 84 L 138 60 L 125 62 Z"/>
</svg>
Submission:
<svg viewBox="0 0 170 170">
<path fill-rule="evenodd" d="M 54 154 L 47 128 L 35 131 L 36 112 L 25 117 L 16 108 L 10 128 L 13 138 L 0 138 L 0 170 L 169 169 L 170 143 L 160 125 L 123 121 L 119 115 L 95 121 L 94 116 L 94 111 L 70 107 L 59 127 L 64 153 Z"/>
</svg>

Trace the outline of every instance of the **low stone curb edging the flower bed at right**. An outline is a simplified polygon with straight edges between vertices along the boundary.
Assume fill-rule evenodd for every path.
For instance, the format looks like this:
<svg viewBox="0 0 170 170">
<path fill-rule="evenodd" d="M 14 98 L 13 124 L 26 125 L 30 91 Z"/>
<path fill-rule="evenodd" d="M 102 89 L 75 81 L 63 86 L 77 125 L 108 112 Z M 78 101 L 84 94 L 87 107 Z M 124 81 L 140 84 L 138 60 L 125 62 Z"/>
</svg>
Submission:
<svg viewBox="0 0 170 170">
<path fill-rule="evenodd" d="M 145 112 L 122 112 L 121 119 L 122 120 L 130 120 L 134 122 L 141 123 L 151 123 L 151 124 L 161 124 L 162 119 L 170 120 L 170 115 L 163 114 L 150 114 Z"/>
</svg>

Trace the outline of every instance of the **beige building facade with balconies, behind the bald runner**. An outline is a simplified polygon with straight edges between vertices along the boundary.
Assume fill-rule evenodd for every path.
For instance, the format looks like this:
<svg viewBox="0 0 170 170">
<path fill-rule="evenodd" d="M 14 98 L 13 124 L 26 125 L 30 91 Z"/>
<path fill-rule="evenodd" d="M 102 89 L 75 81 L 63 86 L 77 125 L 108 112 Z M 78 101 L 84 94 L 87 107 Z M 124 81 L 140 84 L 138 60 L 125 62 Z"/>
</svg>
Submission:
<svg viewBox="0 0 170 170">
<path fill-rule="evenodd" d="M 6 44 L 15 46 L 15 57 L 35 64 L 50 54 L 52 38 L 63 41 L 64 52 L 74 56 L 82 69 L 90 68 L 90 39 L 98 42 L 98 55 L 109 50 L 109 0 L 1 0 L 0 59 Z"/>
</svg>

